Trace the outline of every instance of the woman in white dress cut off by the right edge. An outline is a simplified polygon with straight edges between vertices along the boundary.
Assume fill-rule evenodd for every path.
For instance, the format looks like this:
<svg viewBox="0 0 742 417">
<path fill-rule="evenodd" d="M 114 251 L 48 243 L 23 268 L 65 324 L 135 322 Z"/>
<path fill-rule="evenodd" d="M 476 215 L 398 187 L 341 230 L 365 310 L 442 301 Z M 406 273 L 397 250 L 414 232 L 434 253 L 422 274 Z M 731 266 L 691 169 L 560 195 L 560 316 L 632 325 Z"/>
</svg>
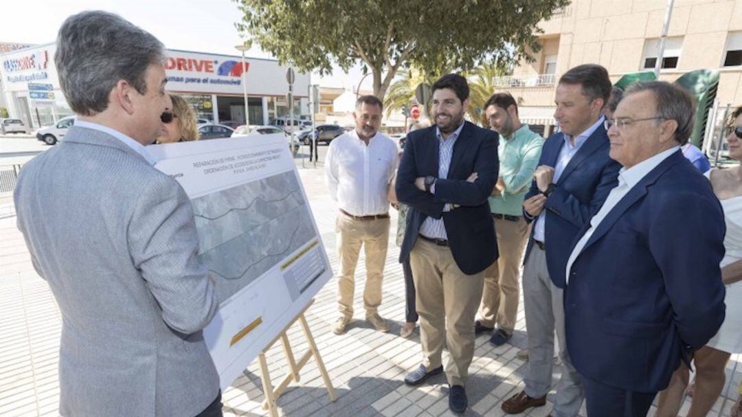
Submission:
<svg viewBox="0 0 742 417">
<path fill-rule="evenodd" d="M 732 114 L 728 130 L 729 157 L 742 161 L 742 108 Z M 721 278 L 726 284 L 726 316 L 714 338 L 695 352 L 695 387 L 688 417 L 709 413 L 723 390 L 724 368 L 729 356 L 742 353 L 742 165 L 712 169 L 706 172 L 706 177 L 721 202 L 726 222 L 726 255 L 720 263 Z M 660 393 L 655 416 L 677 416 L 688 375 L 686 364 L 680 364 L 672 375 L 670 386 Z"/>
</svg>

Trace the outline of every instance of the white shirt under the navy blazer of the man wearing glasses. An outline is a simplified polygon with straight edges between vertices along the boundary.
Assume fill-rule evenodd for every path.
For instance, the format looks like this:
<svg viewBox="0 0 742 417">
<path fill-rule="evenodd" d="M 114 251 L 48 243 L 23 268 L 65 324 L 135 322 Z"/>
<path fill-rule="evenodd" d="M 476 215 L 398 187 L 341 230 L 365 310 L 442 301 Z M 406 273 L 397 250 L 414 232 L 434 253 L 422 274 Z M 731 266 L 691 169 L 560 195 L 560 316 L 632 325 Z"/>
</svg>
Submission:
<svg viewBox="0 0 742 417">
<path fill-rule="evenodd" d="M 569 283 L 569 272 L 572 269 L 572 264 L 575 260 L 577 260 L 580 252 L 582 252 L 582 249 L 585 248 L 585 245 L 588 243 L 588 240 L 590 240 L 590 237 L 592 237 L 595 229 L 597 229 L 597 227 L 600 225 L 600 222 L 605 219 L 608 213 L 613 210 L 613 208 L 623 199 L 623 197 L 626 197 L 626 194 L 628 194 L 628 191 L 631 191 L 631 188 L 634 188 L 634 185 L 637 185 L 637 183 L 639 183 L 642 178 L 646 177 L 646 175 L 649 174 L 651 170 L 657 168 L 657 165 L 660 165 L 663 160 L 666 160 L 670 155 L 674 154 L 679 149 L 680 146 L 674 146 L 666 151 L 662 151 L 659 154 L 654 155 L 654 157 L 637 163 L 637 165 L 634 165 L 631 168 L 621 168 L 621 170 L 618 171 L 618 185 L 616 186 L 616 188 L 613 188 L 608 194 L 608 197 L 605 198 L 603 207 L 601 207 L 600 210 L 590 220 L 590 229 L 588 229 L 588 231 L 582 235 L 580 241 L 577 242 L 577 246 L 574 246 L 571 255 L 569 255 L 569 260 L 567 261 L 567 269 L 565 270 L 567 273 L 567 283 Z"/>
</svg>

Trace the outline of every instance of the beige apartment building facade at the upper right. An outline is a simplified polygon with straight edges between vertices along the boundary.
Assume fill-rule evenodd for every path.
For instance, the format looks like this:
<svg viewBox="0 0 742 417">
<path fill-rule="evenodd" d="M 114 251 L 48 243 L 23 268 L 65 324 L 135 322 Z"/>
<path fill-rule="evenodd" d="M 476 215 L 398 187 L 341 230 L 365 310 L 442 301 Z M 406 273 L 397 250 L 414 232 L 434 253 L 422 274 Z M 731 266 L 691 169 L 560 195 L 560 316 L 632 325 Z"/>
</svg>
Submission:
<svg viewBox="0 0 742 417">
<path fill-rule="evenodd" d="M 600 64 L 611 81 L 654 70 L 667 0 L 573 0 L 541 22 L 541 50 L 522 60 L 512 76 L 496 79 L 519 103 L 524 122 L 553 131 L 559 76 L 580 64 Z M 675 0 L 660 80 L 691 70 L 720 72 L 720 107 L 742 104 L 742 0 Z M 722 112 L 720 112 L 722 113 Z"/>
</svg>

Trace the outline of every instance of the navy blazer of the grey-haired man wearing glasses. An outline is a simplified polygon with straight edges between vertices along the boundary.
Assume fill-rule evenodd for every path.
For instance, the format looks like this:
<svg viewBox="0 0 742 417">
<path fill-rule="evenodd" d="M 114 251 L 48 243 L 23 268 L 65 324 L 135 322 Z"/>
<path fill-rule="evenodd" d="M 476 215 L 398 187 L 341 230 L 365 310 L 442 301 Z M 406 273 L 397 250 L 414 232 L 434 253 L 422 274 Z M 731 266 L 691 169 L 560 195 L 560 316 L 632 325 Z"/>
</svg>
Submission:
<svg viewBox="0 0 742 417">
<path fill-rule="evenodd" d="M 709 180 L 680 151 L 631 188 L 571 267 L 565 322 L 577 371 L 623 390 L 667 387 L 724 320 L 725 232 Z"/>
</svg>

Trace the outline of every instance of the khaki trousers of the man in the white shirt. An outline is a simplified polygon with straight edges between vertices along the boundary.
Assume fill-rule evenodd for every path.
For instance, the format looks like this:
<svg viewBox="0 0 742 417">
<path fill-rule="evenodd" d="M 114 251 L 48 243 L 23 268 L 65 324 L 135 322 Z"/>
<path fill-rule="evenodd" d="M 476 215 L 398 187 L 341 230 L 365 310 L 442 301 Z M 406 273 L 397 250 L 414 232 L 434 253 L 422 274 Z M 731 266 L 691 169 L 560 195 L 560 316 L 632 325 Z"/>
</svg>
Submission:
<svg viewBox="0 0 742 417">
<path fill-rule="evenodd" d="M 381 305 L 381 282 L 384 280 L 384 263 L 387 261 L 389 245 L 389 218 L 355 220 L 346 214 L 338 214 L 335 233 L 338 238 L 338 303 L 342 315 L 353 317 L 353 293 L 355 292 L 355 266 L 361 246 L 366 252 L 366 288 L 364 307 L 366 317 L 375 315 Z"/>
</svg>

